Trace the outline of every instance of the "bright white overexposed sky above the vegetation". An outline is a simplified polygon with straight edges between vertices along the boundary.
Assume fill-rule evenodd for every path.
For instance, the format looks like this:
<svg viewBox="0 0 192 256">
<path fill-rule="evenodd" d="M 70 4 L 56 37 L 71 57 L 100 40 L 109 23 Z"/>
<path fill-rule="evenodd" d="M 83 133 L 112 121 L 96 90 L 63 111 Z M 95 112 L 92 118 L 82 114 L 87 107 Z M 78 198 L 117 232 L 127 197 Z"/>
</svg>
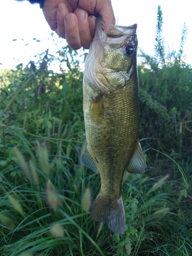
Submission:
<svg viewBox="0 0 192 256">
<path fill-rule="evenodd" d="M 191 1 L 112 0 L 117 24 L 130 26 L 137 23 L 138 47 L 150 55 L 154 55 L 158 5 L 163 12 L 165 49 L 169 46 L 170 50 L 178 51 L 185 22 L 188 30 L 184 53 L 186 62 L 192 65 Z M 57 48 L 67 45 L 65 39 L 49 28 L 38 4 L 0 0 L 0 24 L 0 69 L 14 69 L 19 63 L 27 65 L 30 60 L 35 61 L 35 55 L 48 48 L 54 55 Z M 54 63 L 51 68 L 58 72 L 59 63 Z"/>
</svg>

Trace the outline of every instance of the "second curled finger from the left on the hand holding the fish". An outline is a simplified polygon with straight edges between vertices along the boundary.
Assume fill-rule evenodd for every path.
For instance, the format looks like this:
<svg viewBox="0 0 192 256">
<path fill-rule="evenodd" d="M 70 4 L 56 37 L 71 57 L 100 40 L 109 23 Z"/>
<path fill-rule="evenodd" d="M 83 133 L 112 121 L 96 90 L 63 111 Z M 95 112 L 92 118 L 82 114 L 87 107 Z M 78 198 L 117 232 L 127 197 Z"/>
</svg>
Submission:
<svg viewBox="0 0 192 256">
<path fill-rule="evenodd" d="M 64 26 L 68 44 L 75 50 L 80 49 L 82 45 L 79 36 L 77 16 L 74 13 L 67 14 L 64 17 Z"/>
</svg>

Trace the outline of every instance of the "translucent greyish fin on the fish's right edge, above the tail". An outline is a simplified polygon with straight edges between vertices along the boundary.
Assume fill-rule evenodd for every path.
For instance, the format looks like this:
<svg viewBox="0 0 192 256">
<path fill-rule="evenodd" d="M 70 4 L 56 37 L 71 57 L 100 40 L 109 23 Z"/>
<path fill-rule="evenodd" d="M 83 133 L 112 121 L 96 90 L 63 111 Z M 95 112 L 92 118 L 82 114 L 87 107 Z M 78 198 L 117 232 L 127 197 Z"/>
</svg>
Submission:
<svg viewBox="0 0 192 256">
<path fill-rule="evenodd" d="M 126 167 L 126 170 L 130 174 L 143 174 L 145 170 L 147 170 L 146 159 L 139 142 L 131 161 Z"/>
</svg>

